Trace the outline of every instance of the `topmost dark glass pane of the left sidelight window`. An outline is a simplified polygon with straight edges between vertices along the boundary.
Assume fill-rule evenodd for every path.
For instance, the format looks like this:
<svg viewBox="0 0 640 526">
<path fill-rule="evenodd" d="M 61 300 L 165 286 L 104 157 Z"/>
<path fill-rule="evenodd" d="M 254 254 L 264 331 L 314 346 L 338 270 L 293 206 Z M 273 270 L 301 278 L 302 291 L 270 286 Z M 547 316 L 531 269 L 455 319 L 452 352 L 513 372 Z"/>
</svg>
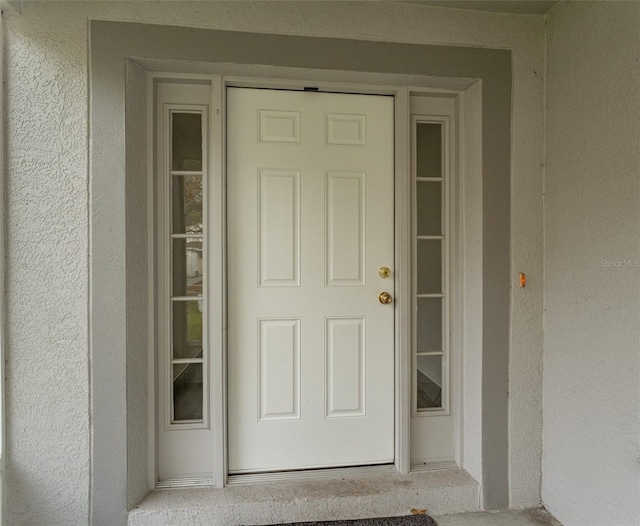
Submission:
<svg viewBox="0 0 640 526">
<path fill-rule="evenodd" d="M 202 170 L 202 114 L 171 114 L 171 169 Z"/>
</svg>

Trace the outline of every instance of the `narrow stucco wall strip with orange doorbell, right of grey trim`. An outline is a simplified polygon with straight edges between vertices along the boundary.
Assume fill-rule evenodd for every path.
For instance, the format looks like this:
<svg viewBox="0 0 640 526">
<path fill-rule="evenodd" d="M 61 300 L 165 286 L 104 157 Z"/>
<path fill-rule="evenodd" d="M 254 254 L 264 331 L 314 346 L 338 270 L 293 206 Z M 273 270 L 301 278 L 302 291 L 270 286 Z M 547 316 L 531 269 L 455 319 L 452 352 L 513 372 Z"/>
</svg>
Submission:
<svg viewBox="0 0 640 526">
<path fill-rule="evenodd" d="M 542 452 L 542 168 L 544 32 L 542 17 L 512 16 L 529 42 L 514 50 L 511 128 L 511 326 L 509 353 L 509 506 L 539 504 Z M 530 101 L 529 104 L 521 101 Z M 518 274 L 527 275 L 527 286 Z"/>
</svg>

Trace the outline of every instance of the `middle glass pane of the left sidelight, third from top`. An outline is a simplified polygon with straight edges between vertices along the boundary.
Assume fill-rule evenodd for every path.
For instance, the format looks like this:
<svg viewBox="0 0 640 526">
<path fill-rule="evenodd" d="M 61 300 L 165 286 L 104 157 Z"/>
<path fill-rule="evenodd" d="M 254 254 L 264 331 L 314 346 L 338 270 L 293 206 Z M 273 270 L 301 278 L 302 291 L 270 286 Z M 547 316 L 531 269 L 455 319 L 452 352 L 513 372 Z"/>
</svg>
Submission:
<svg viewBox="0 0 640 526">
<path fill-rule="evenodd" d="M 172 276 L 174 296 L 202 295 L 202 238 L 172 240 Z"/>
</svg>

